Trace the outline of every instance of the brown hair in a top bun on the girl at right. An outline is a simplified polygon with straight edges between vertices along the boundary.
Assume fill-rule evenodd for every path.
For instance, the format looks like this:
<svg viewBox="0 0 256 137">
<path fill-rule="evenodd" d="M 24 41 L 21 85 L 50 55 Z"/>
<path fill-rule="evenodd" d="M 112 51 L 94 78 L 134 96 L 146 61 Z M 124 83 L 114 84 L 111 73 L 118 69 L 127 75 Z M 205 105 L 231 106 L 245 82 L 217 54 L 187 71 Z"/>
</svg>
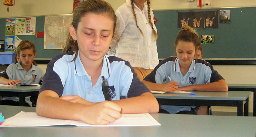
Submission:
<svg viewBox="0 0 256 137">
<path fill-rule="evenodd" d="M 192 29 L 189 26 L 184 25 L 181 28 L 180 33 L 175 39 L 175 45 L 178 44 L 179 41 L 185 41 L 185 42 L 193 42 L 194 46 L 197 47 L 200 45 L 201 41 L 194 29 Z"/>
</svg>

